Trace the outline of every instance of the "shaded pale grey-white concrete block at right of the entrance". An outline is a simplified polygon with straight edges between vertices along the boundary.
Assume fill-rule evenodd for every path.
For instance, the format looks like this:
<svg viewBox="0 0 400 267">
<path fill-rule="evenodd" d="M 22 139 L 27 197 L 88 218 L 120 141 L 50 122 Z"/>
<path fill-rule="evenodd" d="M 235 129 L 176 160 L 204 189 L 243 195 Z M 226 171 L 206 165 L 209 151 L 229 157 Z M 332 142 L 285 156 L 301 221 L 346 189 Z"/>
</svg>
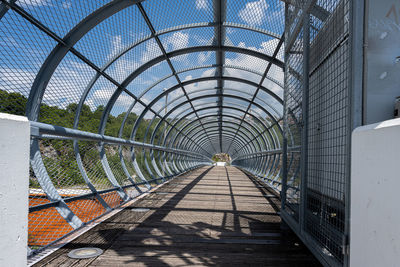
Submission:
<svg viewBox="0 0 400 267">
<path fill-rule="evenodd" d="M 400 266 L 400 119 L 352 136 L 350 263 Z"/>
</svg>

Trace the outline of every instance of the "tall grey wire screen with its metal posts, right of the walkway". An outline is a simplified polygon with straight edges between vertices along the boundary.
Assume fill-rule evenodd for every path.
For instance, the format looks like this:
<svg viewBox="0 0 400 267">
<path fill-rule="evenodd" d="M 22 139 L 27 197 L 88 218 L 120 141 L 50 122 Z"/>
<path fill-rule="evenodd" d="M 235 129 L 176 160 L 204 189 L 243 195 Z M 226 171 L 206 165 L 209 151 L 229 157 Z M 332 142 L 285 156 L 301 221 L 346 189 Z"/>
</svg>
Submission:
<svg viewBox="0 0 400 267">
<path fill-rule="evenodd" d="M 306 26 L 286 55 L 285 211 L 294 219 L 296 231 L 308 240 L 309 247 L 332 266 L 346 265 L 347 253 L 345 201 L 349 197 L 346 185 L 351 133 L 349 2 L 317 1 L 326 16 L 309 10 L 308 58 L 301 58 L 306 54 L 297 48 L 297 42 L 306 36 Z M 290 12 L 295 12 L 295 7 Z M 299 54 L 293 55 L 296 52 Z M 308 64 L 304 63 L 306 60 Z M 303 76 L 302 66 L 308 68 L 308 79 Z M 295 70 L 299 70 L 297 77 Z M 307 99 L 303 99 L 305 95 Z"/>
</svg>

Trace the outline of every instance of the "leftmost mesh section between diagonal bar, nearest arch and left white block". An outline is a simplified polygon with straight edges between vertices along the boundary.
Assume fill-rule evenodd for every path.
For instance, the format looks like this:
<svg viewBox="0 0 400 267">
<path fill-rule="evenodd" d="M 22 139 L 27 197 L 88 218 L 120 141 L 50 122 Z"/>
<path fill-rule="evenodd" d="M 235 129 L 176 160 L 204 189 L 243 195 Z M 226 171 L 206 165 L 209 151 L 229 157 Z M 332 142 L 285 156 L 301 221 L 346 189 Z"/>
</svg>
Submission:
<svg viewBox="0 0 400 267">
<path fill-rule="evenodd" d="M 32 83 L 55 45 L 14 11 L 1 18 L 0 112 L 25 115 Z"/>
</svg>

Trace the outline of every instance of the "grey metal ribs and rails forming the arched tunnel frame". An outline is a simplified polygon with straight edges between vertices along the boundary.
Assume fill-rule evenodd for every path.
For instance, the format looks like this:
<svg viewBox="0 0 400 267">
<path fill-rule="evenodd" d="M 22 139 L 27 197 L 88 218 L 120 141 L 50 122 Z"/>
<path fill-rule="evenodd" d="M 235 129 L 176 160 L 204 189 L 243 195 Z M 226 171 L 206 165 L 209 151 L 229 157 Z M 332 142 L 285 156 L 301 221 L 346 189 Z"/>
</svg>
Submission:
<svg viewBox="0 0 400 267">
<path fill-rule="evenodd" d="M 283 80 L 274 77 L 271 69 L 274 67 L 275 70 L 278 69 L 282 72 L 284 70 L 284 62 L 279 55 L 283 48 L 284 32 L 274 32 L 273 29 L 227 21 L 226 0 L 211 1 L 212 21 L 175 25 L 156 30 L 147 14 L 146 6 L 144 6 L 146 2 L 151 1 L 153 0 L 112 0 L 83 18 L 65 36 L 59 36 L 52 31 L 51 27 L 35 18 L 29 9 L 19 4 L 20 1 L 0 2 L 0 19 L 8 10 L 12 10 L 56 42 L 56 46 L 48 54 L 32 80 L 26 106 L 26 115 L 32 125 L 31 167 L 41 189 L 50 201 L 32 206 L 31 213 L 56 208 L 60 216 L 76 229 L 86 222 L 71 209 L 68 203 L 79 199 L 95 198 L 105 211 L 110 210 L 115 207 L 108 200 L 111 193 L 121 203 L 126 202 L 137 195 L 132 193 L 132 190 L 141 194 L 184 172 L 211 165 L 213 163 L 211 158 L 216 153 L 232 155 L 233 159 L 230 164 L 252 173 L 280 190 L 283 153 L 283 99 L 273 88 L 269 88 L 270 86 L 264 85 L 264 83 L 268 81 L 267 84 L 273 84 L 283 92 Z M 277 5 L 284 6 L 279 1 Z M 76 45 L 93 29 L 113 15 L 130 7 L 135 7 L 139 11 L 141 19 L 150 32 L 149 35 L 128 44 L 109 58 L 103 66 L 97 66 L 76 49 Z M 207 45 L 178 47 L 167 51 L 161 39 L 163 36 L 194 28 L 212 28 L 214 32 L 212 40 Z M 227 41 L 229 39 L 227 29 L 229 28 L 246 30 L 252 34 L 265 36 L 265 40 L 276 40 L 277 42 L 271 54 L 257 49 L 235 46 Z M 121 82 L 108 73 L 108 70 L 130 51 L 149 42 L 155 42 L 160 51 L 159 54 L 142 62 Z M 198 52 L 215 53 L 215 62 L 187 69 L 177 69 L 173 61 L 176 57 Z M 226 63 L 226 53 L 250 56 L 258 60 L 255 64 L 263 63 L 266 67 L 262 71 L 256 71 L 246 66 L 230 65 Z M 73 126 L 70 128 L 66 125 L 45 124 L 41 122 L 40 118 L 41 107 L 45 104 L 44 96 L 46 90 L 49 90 L 48 85 L 68 54 L 74 55 L 94 71 L 94 75 L 88 84 L 84 85 L 79 96 Z M 158 77 L 157 81 L 152 82 L 140 94 L 128 89 L 136 78 L 161 63 L 168 65 L 170 74 Z M 180 76 L 187 72 L 210 68 L 215 70 L 210 76 L 181 80 Z M 246 78 L 228 76 L 225 73 L 226 70 L 241 71 L 246 73 Z M 295 70 L 290 71 L 297 74 Z M 253 76 L 257 79 L 252 78 Z M 300 75 L 297 74 L 297 77 Z M 175 78 L 174 85 L 169 85 L 162 93 L 152 95 L 151 99 L 145 99 L 155 91 L 157 86 L 170 78 Z M 92 133 L 78 130 L 85 103 L 89 95 L 95 91 L 99 79 L 105 79 L 116 89 L 105 103 L 98 131 Z M 188 89 L 193 85 L 209 82 L 215 82 L 216 86 L 206 86 L 194 91 Z M 238 87 L 230 88 L 226 86 L 227 82 L 234 83 Z M 260 91 L 267 94 L 271 100 L 260 97 Z M 181 92 L 181 95 L 165 105 L 161 103 L 176 92 Z M 211 94 L 208 94 L 210 92 Z M 105 134 L 107 121 L 122 94 L 129 99 L 129 105 L 124 111 L 126 114 L 123 116 L 118 134 L 108 136 Z M 212 105 L 211 103 L 201 103 L 210 99 L 216 99 Z M 124 138 L 123 132 L 128 127 L 128 117 L 138 105 L 142 106 L 143 110 L 138 114 L 130 138 Z M 168 111 L 163 112 L 166 109 Z M 138 141 L 137 132 L 143 125 L 147 125 L 145 140 Z M 54 179 L 43 159 L 43 151 L 40 149 L 43 140 L 53 139 L 72 142 L 77 175 L 82 177 L 87 187 L 85 193 L 66 197 L 61 193 L 62 190 L 54 184 Z M 83 150 L 86 143 L 92 144 L 93 150 L 96 150 L 96 153 L 93 153 L 93 155 L 95 154 L 93 157 L 96 157 L 94 160 L 96 164 L 92 166 L 85 162 L 87 156 L 84 155 L 85 151 Z M 115 154 L 113 154 L 115 151 L 111 149 L 113 147 L 117 148 Z M 116 160 L 115 157 L 118 159 Z M 289 165 L 292 162 L 295 164 L 294 160 L 288 160 Z M 98 169 L 108 188 L 99 186 L 95 180 L 96 174 L 92 173 L 91 168 Z M 290 180 L 290 177 L 288 179 Z"/>
</svg>

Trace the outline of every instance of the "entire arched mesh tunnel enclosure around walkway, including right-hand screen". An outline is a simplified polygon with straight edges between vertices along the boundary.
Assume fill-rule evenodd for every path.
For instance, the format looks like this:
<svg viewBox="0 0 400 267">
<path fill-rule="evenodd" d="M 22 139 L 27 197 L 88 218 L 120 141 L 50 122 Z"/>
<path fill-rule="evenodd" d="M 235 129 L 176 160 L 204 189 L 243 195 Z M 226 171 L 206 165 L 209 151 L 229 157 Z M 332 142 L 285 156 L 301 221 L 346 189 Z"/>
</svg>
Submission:
<svg viewBox="0 0 400 267">
<path fill-rule="evenodd" d="M 300 178 L 304 116 L 310 129 L 318 116 L 348 127 L 348 87 L 338 85 L 347 77 L 326 73 L 350 68 L 349 10 L 349 1 L 1 0 L 0 111 L 31 125 L 30 253 L 225 153 L 281 194 L 293 222 L 311 216 L 315 244 L 342 264 L 347 172 L 329 185 L 310 174 L 307 215 Z"/>
</svg>

